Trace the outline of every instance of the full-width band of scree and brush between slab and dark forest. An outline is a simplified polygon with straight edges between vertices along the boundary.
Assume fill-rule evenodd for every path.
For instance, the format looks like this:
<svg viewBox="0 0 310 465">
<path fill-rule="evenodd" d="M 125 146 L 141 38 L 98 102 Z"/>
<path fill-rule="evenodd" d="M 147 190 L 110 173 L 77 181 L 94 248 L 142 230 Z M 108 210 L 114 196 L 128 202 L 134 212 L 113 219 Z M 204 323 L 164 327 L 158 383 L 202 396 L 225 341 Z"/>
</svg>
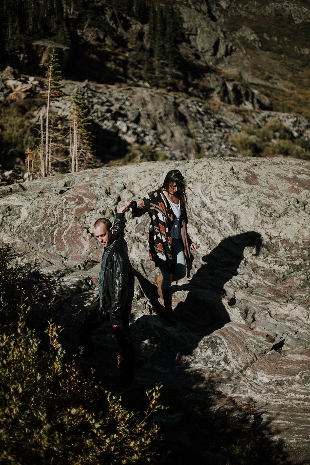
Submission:
<svg viewBox="0 0 310 465">
<path fill-rule="evenodd" d="M 43 118 L 46 115 L 45 106 L 42 105 L 46 96 L 40 82 L 34 77 L 12 75 L 15 79 L 6 79 L 10 77 L 7 73 L 6 71 L 2 74 L 4 80 L 0 92 L 4 102 L 2 116 L 0 107 L 0 171 L 4 182 L 12 182 L 9 176 L 12 176 L 10 173 L 14 166 L 20 166 L 22 171 L 15 179 L 19 179 L 27 171 L 23 163 L 23 151 L 28 148 L 34 149 L 35 145 L 39 144 L 38 140 L 35 142 L 35 136 L 40 131 L 41 115 Z M 237 107 L 215 100 L 189 97 L 182 93 L 152 89 L 147 85 L 114 86 L 67 80 L 63 80 L 62 84 L 62 94 L 51 103 L 53 118 L 60 127 L 69 124 L 73 94 L 81 88 L 92 122 L 93 150 L 97 166 L 102 166 L 103 163 L 122 163 L 119 159 L 122 159 L 131 147 L 139 152 L 140 146 L 150 147 L 154 160 L 158 159 L 156 153 L 167 159 L 241 157 L 247 154 L 243 150 L 244 143 L 245 149 L 246 144 L 250 144 L 251 147 L 255 142 L 255 136 L 250 136 L 250 140 L 246 139 L 249 136 L 245 136 L 245 141 L 240 140 L 238 143 L 232 135 L 242 135 L 251 128 L 254 132 L 256 128 L 263 128 L 264 133 L 264 127 L 275 120 L 280 121 L 286 131 L 283 137 L 290 143 L 286 148 L 298 147 L 300 153 L 297 154 L 297 158 L 308 159 L 310 156 L 309 120 L 296 113 L 262 111 L 253 107 L 250 109 L 249 106 L 252 106 L 251 102 L 254 101 L 252 99 L 244 100 L 244 103 Z M 236 88 L 230 89 L 231 99 L 236 92 Z M 264 99 L 259 93 L 252 93 L 252 96 L 255 101 Z M 24 100 L 14 101 L 15 98 Z M 256 105 L 255 101 L 253 106 Z M 277 143 L 277 138 L 282 138 L 276 127 L 270 134 L 268 140 L 272 140 L 274 144 Z M 266 138 L 265 133 L 263 138 Z M 64 143 L 68 145 L 68 140 Z M 250 153 L 251 156 L 252 154 L 255 155 L 255 151 Z M 275 155 L 277 154 L 296 156 L 294 153 L 285 152 L 283 147 L 279 148 Z M 68 168 L 60 165 L 60 168 L 55 169 L 54 174 L 57 170 L 61 172 Z"/>
</svg>

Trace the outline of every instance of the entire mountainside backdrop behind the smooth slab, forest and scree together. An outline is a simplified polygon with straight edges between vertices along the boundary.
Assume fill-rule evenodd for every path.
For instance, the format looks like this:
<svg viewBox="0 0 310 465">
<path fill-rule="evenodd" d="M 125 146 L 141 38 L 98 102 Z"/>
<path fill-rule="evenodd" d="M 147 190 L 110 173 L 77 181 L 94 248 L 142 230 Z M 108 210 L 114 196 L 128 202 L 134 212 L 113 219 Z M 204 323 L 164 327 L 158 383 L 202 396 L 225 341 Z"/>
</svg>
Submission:
<svg viewBox="0 0 310 465">
<path fill-rule="evenodd" d="M 302 148 L 299 155 L 278 147 L 263 156 L 308 159 L 302 149 L 310 148 L 309 1 L 186 1 L 168 7 L 102 0 L 89 2 L 87 10 L 82 3 L 63 2 L 63 9 L 60 3 L 46 3 L 58 18 L 53 24 L 44 23 L 42 3 L 37 13 L 31 2 L 12 3 L 21 29 L 1 39 L 7 47 L 0 64 L 2 174 L 22 166 L 25 150 L 35 146 L 46 100 L 44 63 L 55 43 L 67 79 L 53 110 L 59 125 L 67 124 L 71 96 L 83 86 L 97 166 L 124 157 L 134 144 L 161 150 L 168 159 L 261 155 L 263 149 L 251 148 L 254 133 L 253 143 L 248 138 L 239 144 L 231 134 L 273 119 Z M 38 27 L 30 27 L 20 11 Z M 12 18 L 4 20 L 4 31 Z M 277 131 L 271 140 L 277 142 Z"/>
</svg>

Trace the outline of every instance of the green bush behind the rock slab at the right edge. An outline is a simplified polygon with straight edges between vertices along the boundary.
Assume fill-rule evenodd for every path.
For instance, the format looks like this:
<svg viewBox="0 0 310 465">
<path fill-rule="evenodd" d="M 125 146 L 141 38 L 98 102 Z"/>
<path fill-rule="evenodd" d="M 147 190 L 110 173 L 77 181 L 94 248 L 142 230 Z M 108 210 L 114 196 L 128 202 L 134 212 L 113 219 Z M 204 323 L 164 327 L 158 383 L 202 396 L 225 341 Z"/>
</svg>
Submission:
<svg viewBox="0 0 310 465">
<path fill-rule="evenodd" d="M 244 157 L 291 157 L 310 160 L 310 143 L 305 138 L 294 140 L 280 120 L 263 127 L 245 127 L 245 133 L 231 134 L 230 142 Z"/>
</svg>

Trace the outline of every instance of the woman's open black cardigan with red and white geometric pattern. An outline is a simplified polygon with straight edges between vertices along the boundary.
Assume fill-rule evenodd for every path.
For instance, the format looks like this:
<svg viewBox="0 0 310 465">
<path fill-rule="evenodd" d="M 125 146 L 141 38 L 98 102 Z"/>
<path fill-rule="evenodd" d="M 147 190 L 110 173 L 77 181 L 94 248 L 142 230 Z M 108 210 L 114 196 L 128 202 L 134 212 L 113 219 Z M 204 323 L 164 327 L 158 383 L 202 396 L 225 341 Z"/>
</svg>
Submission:
<svg viewBox="0 0 310 465">
<path fill-rule="evenodd" d="M 174 220 L 172 208 L 162 189 L 145 195 L 140 205 L 132 211 L 134 217 L 148 213 L 151 217 L 149 239 L 149 257 L 162 270 L 175 272 L 175 264 L 171 255 L 171 227 Z M 186 210 L 181 210 L 181 238 L 185 253 L 187 278 L 190 277 L 191 264 L 194 257 L 191 254 L 191 239 L 187 233 L 188 223 Z"/>
</svg>

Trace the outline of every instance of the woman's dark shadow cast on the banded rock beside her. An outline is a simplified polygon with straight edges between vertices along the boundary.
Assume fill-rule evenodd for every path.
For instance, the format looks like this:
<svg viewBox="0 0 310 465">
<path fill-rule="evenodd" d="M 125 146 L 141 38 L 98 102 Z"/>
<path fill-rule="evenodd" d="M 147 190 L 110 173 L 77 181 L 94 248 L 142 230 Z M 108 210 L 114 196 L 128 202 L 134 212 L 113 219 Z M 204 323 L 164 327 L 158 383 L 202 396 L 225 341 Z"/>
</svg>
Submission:
<svg viewBox="0 0 310 465">
<path fill-rule="evenodd" d="M 184 301 L 176 302 L 174 313 L 178 322 L 192 332 L 210 334 L 230 321 L 222 303 L 226 296 L 225 283 L 238 274 L 238 268 L 244 259 L 244 249 L 254 247 L 258 255 L 263 245 L 261 235 L 249 231 L 223 239 L 208 255 L 191 280 L 182 286 L 172 286 L 172 292 L 187 292 Z M 136 272 L 145 295 L 150 299 L 155 310 L 160 310 L 157 286 Z M 229 297 L 229 296 L 228 296 Z M 229 305 L 234 305 L 234 297 L 229 298 Z"/>
</svg>

